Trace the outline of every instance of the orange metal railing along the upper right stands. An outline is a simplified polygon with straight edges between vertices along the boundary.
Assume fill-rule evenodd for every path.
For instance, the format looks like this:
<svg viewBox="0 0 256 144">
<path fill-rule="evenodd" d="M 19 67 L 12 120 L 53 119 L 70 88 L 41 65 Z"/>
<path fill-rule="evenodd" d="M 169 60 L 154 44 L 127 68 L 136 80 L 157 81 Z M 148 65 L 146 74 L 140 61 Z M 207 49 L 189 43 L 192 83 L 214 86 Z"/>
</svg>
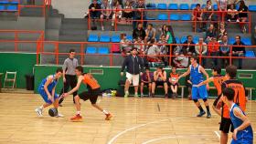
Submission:
<svg viewBox="0 0 256 144">
<path fill-rule="evenodd" d="M 125 10 L 129 10 L 129 9 L 125 9 Z M 141 19 L 138 19 L 138 20 L 134 20 L 134 19 L 131 19 L 129 21 L 131 22 L 140 22 L 140 23 L 143 23 L 144 21 L 146 22 L 158 22 L 158 23 L 161 23 L 161 22 L 167 22 L 167 23 L 191 23 L 195 25 L 194 27 L 194 32 L 196 33 L 197 31 L 197 23 L 220 23 L 220 22 L 225 22 L 225 16 L 223 15 L 227 15 L 228 11 L 207 11 L 207 12 L 203 12 L 203 13 L 214 13 L 215 15 L 222 15 L 220 16 L 219 18 L 217 18 L 216 21 L 210 21 L 210 20 L 207 20 L 207 21 L 197 21 L 196 20 L 188 20 L 188 21 L 182 21 L 182 20 L 170 20 L 170 15 L 171 14 L 176 14 L 176 13 L 187 13 L 187 14 L 191 14 L 191 17 L 192 17 L 192 14 L 194 12 L 194 10 L 159 10 L 159 9 L 141 9 L 141 10 L 137 10 L 137 9 L 130 9 L 132 10 L 133 12 L 134 11 L 141 11 Z M 95 11 L 112 11 L 112 12 L 118 12 L 118 11 L 124 11 L 124 9 L 95 9 Z M 92 21 L 92 18 L 91 18 L 91 12 L 92 10 L 89 9 L 89 17 L 88 17 L 88 29 L 91 29 L 91 21 Z M 157 17 L 154 17 L 155 20 L 149 20 L 149 19 L 144 19 L 144 13 L 148 13 L 148 12 L 160 12 L 160 13 L 167 13 L 167 20 L 159 20 L 157 19 Z M 237 13 L 237 12 L 236 12 Z M 239 22 L 240 25 L 248 25 L 248 31 L 249 33 L 251 33 L 251 12 L 240 12 L 240 13 L 246 13 L 248 14 L 248 21 L 246 22 Z M 99 19 L 93 19 L 94 21 L 101 21 L 100 17 Z M 112 19 L 103 19 L 103 21 L 112 21 Z M 118 26 L 118 23 L 120 21 L 126 21 L 126 20 L 120 20 L 118 19 L 117 16 L 115 16 L 114 18 L 114 30 L 117 31 L 117 26 Z M 238 22 L 229 22 L 229 24 L 238 24 Z"/>
</svg>

